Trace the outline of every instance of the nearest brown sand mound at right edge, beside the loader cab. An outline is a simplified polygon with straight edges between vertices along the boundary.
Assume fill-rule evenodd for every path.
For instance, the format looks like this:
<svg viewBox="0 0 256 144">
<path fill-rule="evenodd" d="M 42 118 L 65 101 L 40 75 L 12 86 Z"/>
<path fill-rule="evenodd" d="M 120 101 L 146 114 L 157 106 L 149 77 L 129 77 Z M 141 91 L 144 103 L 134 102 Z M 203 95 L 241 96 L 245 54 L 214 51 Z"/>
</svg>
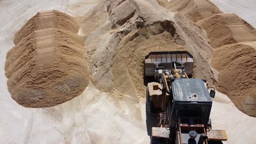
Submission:
<svg viewBox="0 0 256 144">
<path fill-rule="evenodd" d="M 256 45 L 232 44 L 214 51 L 212 66 L 219 71 L 218 90 L 249 116 L 256 117 Z"/>
</svg>

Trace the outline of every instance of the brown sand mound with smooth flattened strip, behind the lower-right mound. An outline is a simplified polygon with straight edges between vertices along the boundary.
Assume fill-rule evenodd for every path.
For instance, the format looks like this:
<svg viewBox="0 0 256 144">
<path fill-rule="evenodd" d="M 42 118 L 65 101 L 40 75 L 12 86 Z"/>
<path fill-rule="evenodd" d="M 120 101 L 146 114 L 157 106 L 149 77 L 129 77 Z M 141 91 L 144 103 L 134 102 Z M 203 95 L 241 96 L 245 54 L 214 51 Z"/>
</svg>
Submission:
<svg viewBox="0 0 256 144">
<path fill-rule="evenodd" d="M 256 40 L 256 30 L 236 14 L 218 14 L 197 22 L 213 47 Z"/>
</svg>

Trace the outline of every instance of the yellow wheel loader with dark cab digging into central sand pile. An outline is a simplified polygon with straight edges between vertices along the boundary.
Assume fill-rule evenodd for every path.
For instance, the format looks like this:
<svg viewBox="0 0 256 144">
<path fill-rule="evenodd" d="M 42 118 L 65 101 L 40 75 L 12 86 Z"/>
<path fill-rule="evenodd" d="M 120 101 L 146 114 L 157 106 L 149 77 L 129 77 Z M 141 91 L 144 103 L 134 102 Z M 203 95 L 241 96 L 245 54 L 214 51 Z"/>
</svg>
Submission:
<svg viewBox="0 0 256 144">
<path fill-rule="evenodd" d="M 190 79 L 194 59 L 188 51 L 150 52 L 144 59 L 146 123 L 150 143 L 212 144 L 228 140 L 213 130 L 210 113 L 215 89 Z M 211 90 L 211 91 L 210 91 Z M 210 92 L 209 92 L 210 91 Z"/>
</svg>

